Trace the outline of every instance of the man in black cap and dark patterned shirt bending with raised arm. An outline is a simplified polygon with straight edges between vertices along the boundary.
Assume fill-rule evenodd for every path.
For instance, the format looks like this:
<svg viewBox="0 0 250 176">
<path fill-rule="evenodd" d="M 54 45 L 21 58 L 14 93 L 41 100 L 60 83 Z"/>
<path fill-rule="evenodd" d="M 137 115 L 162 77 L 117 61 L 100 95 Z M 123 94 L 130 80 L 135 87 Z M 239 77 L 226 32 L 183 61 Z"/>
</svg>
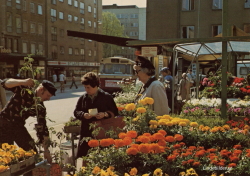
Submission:
<svg viewBox="0 0 250 176">
<path fill-rule="evenodd" d="M 43 101 L 55 96 L 56 88 L 50 81 L 44 80 L 34 91 L 33 79 L 5 79 L 1 86 L 14 94 L 0 112 L 0 146 L 14 142 L 24 150 L 37 152 L 35 142 L 25 128 L 25 120 L 30 116 L 37 118 L 35 128 L 39 143 L 44 147 L 44 158 L 52 162 L 48 144 L 49 131 L 46 125 L 46 108 Z"/>
</svg>

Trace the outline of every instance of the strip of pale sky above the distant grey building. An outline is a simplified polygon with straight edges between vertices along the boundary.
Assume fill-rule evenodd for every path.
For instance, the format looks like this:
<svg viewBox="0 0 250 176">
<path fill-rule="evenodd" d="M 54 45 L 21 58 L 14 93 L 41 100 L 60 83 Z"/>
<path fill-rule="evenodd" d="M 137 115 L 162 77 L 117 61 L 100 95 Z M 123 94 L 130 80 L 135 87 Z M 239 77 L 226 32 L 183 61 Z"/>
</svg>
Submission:
<svg viewBox="0 0 250 176">
<path fill-rule="evenodd" d="M 146 7 L 146 0 L 102 0 L 102 5 L 137 5 L 138 7 Z"/>
</svg>

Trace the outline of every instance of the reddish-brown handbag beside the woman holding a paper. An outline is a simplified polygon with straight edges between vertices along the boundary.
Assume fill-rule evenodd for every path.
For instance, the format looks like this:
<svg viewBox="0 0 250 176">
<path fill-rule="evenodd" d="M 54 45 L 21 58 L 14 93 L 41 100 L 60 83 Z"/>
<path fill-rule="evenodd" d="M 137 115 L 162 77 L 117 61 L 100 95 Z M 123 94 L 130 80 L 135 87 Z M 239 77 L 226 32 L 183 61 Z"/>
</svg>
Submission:
<svg viewBox="0 0 250 176">
<path fill-rule="evenodd" d="M 108 119 L 101 119 L 98 121 L 93 121 L 95 124 L 95 128 L 101 127 L 96 139 L 105 139 L 107 138 L 106 132 L 109 130 L 113 130 L 117 135 L 122 132 L 123 127 L 125 127 L 125 122 L 123 121 L 123 117 L 111 117 Z"/>
</svg>

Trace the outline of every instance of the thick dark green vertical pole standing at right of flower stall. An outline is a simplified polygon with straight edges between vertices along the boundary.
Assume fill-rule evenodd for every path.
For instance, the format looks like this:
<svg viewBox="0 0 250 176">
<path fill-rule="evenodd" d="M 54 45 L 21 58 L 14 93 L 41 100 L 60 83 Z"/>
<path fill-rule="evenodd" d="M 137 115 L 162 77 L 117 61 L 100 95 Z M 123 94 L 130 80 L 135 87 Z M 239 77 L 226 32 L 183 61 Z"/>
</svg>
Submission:
<svg viewBox="0 0 250 176">
<path fill-rule="evenodd" d="M 227 10 L 228 10 L 228 0 L 223 0 L 222 7 L 222 36 L 227 36 Z M 222 41 L 222 80 L 221 80 L 221 117 L 227 117 L 227 41 Z"/>
</svg>

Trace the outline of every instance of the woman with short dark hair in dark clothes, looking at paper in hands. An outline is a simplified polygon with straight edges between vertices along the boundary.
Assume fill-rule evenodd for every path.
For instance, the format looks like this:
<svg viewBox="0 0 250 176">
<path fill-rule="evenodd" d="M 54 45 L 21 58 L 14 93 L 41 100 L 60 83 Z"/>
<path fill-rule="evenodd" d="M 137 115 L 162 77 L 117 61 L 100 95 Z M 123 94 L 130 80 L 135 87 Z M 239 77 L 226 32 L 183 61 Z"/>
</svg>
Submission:
<svg viewBox="0 0 250 176">
<path fill-rule="evenodd" d="M 74 116 L 82 122 L 77 157 L 86 156 L 90 148 L 86 141 L 82 141 L 83 137 L 92 137 L 89 124 L 118 115 L 113 97 L 99 88 L 99 79 L 95 73 L 86 73 L 81 82 L 86 92 L 78 99 L 74 110 Z"/>
</svg>

